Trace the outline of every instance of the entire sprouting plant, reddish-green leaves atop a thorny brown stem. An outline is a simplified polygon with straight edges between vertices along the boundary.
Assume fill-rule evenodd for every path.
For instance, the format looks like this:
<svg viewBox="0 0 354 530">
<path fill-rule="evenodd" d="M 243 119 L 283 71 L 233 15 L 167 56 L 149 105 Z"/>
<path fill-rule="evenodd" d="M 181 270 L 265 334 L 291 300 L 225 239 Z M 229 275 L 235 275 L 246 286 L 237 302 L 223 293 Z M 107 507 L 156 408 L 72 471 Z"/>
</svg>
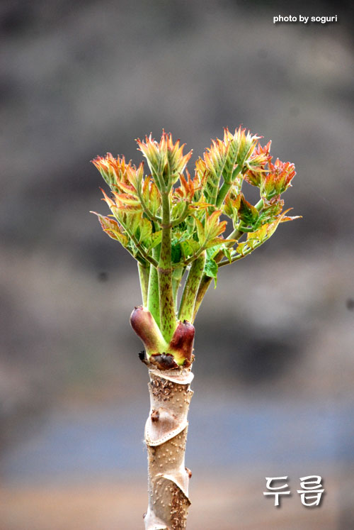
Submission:
<svg viewBox="0 0 354 530">
<path fill-rule="evenodd" d="M 145 426 L 149 503 L 146 530 L 186 527 L 190 470 L 185 468 L 188 408 L 193 395 L 193 323 L 221 267 L 246 258 L 273 235 L 287 216 L 282 194 L 295 176 L 294 164 L 272 162 L 270 141 L 244 128 L 212 140 L 185 169 L 192 151 L 162 133 L 137 140 L 147 161 L 138 167 L 124 156 L 93 160 L 106 184 L 111 214 L 96 214 L 103 231 L 137 260 L 142 304 L 130 324 L 141 338 L 139 358 L 149 368 L 151 409 Z M 251 204 L 247 186 L 259 189 Z M 96 212 L 93 212 L 96 213 Z M 227 234 L 225 236 L 225 234 Z M 179 294 L 178 289 L 183 286 Z M 179 295 L 178 295 L 179 294 Z"/>
</svg>

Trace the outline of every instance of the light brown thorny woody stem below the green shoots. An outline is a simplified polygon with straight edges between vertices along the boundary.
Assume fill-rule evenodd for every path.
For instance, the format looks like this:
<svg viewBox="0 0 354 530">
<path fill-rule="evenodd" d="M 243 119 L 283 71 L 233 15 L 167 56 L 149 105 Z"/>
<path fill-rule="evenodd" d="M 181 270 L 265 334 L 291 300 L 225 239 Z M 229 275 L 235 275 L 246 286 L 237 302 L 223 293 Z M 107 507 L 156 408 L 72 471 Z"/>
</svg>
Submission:
<svg viewBox="0 0 354 530">
<path fill-rule="evenodd" d="M 149 504 L 145 530 L 186 528 L 190 470 L 185 468 L 190 369 L 149 370 L 150 412 L 145 426 Z"/>
</svg>

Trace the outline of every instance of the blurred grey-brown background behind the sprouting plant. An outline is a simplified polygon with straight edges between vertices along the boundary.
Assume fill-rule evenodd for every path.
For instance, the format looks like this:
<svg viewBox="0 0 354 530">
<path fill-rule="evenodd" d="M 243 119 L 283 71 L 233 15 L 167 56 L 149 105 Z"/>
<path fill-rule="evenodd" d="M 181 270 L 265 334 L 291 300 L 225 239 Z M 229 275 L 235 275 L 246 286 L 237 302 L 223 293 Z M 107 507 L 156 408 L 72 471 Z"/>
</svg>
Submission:
<svg viewBox="0 0 354 530">
<path fill-rule="evenodd" d="M 285 199 L 303 219 L 224 267 L 198 315 L 188 528 L 354 527 L 352 15 L 346 1 L 1 1 L 1 530 L 142 528 L 137 271 L 89 214 L 106 212 L 89 160 L 139 162 L 134 138 L 162 128 L 195 160 L 240 123 L 295 162 Z M 265 477 L 285 475 L 276 509 Z M 305 475 L 322 477 L 319 508 L 300 502 Z"/>
</svg>

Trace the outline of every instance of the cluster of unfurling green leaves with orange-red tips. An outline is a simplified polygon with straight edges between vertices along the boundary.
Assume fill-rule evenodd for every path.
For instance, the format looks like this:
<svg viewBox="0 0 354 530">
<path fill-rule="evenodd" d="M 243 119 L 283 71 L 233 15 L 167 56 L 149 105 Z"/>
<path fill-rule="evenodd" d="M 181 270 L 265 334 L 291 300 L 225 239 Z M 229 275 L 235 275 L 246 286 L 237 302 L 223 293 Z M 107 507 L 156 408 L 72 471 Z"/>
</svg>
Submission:
<svg viewBox="0 0 354 530">
<path fill-rule="evenodd" d="M 283 211 L 281 197 L 295 166 L 278 158 L 273 163 L 270 141 L 262 145 L 260 139 L 241 126 L 234 133 L 225 128 L 195 162 L 193 177 L 185 170 L 192 152 L 183 155 L 184 145 L 165 132 L 159 142 L 151 134 L 137 140 L 147 174 L 144 162 L 136 167 L 110 153 L 96 158 L 93 164 L 110 188 L 109 195 L 103 191 L 110 215 L 96 214 L 103 231 L 143 267 L 157 269 L 164 252 L 178 280 L 205 255 L 203 275 L 216 282 L 219 267 L 249 255 L 280 223 L 296 219 Z M 245 197 L 250 185 L 259 191 L 256 204 Z"/>
</svg>

